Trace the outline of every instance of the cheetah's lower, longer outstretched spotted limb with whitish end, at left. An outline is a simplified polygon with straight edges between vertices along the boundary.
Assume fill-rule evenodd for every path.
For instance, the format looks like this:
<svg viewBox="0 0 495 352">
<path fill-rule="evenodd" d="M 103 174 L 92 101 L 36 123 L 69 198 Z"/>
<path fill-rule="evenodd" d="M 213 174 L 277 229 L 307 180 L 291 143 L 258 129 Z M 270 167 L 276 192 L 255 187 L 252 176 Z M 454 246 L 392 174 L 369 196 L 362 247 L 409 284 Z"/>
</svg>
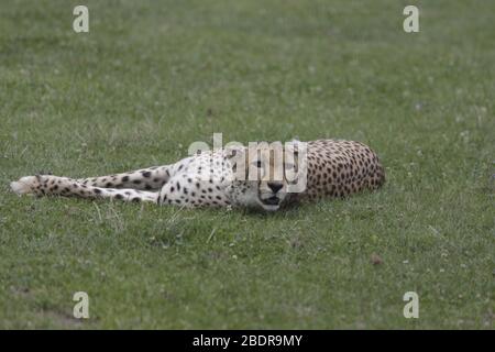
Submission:
<svg viewBox="0 0 495 352">
<path fill-rule="evenodd" d="M 157 202 L 158 193 L 88 186 L 76 179 L 52 175 L 25 176 L 10 184 L 18 195 L 64 196 L 87 199 L 110 198 L 124 201 Z"/>
</svg>

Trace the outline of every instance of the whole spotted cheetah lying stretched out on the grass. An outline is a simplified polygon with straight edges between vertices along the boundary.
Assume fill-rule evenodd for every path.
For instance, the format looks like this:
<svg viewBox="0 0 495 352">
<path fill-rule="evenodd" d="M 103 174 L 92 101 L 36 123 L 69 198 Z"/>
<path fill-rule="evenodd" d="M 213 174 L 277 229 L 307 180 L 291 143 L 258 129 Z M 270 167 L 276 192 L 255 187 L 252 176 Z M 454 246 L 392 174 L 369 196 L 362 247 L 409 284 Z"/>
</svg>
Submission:
<svg viewBox="0 0 495 352">
<path fill-rule="evenodd" d="M 265 143 L 254 153 L 249 146 L 233 146 L 197 153 L 175 164 L 128 173 L 76 179 L 25 176 L 10 186 L 18 195 L 275 211 L 301 201 L 375 190 L 385 182 L 377 155 L 360 142 L 296 141 L 283 150 L 282 177 L 275 177 L 278 163 L 273 144 Z M 289 170 L 293 172 L 290 177 Z M 299 183 L 301 178 L 304 183 Z M 296 189 L 294 185 L 302 187 Z"/>
</svg>

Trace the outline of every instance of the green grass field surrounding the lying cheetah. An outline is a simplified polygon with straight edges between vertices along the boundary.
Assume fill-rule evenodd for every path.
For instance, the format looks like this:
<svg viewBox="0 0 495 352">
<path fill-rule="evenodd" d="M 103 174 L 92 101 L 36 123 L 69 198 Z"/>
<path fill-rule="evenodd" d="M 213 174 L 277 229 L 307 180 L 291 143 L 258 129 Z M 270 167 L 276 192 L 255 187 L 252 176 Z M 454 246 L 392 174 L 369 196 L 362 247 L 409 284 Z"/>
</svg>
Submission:
<svg viewBox="0 0 495 352">
<path fill-rule="evenodd" d="M 495 2 L 409 2 L 1 1 L 0 328 L 493 329 Z M 9 189 L 213 132 L 359 140 L 387 183 L 271 215 Z"/>
</svg>

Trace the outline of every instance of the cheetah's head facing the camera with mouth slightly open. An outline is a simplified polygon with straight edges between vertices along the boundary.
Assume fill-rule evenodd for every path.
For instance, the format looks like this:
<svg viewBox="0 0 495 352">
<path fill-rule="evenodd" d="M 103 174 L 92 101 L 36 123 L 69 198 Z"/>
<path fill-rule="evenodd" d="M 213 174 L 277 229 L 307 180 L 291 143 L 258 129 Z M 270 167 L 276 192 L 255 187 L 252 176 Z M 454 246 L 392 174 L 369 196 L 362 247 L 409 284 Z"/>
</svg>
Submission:
<svg viewBox="0 0 495 352">
<path fill-rule="evenodd" d="M 280 142 L 231 148 L 232 193 L 238 204 L 275 211 L 302 191 L 300 151 Z"/>
</svg>

